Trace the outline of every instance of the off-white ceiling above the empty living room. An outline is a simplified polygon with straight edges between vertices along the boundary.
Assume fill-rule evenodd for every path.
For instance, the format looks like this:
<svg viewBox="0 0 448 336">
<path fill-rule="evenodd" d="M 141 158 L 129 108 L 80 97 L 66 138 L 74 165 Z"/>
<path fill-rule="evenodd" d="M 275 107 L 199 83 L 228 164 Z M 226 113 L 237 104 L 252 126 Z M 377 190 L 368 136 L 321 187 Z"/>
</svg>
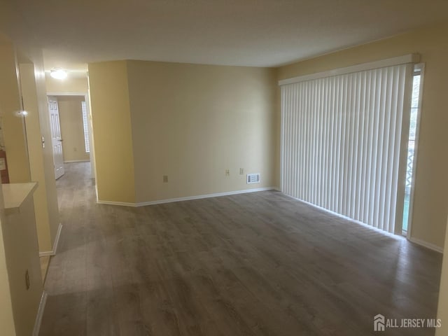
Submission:
<svg viewBox="0 0 448 336">
<path fill-rule="evenodd" d="M 45 68 L 278 66 L 448 20 L 447 0 L 15 0 Z"/>
</svg>

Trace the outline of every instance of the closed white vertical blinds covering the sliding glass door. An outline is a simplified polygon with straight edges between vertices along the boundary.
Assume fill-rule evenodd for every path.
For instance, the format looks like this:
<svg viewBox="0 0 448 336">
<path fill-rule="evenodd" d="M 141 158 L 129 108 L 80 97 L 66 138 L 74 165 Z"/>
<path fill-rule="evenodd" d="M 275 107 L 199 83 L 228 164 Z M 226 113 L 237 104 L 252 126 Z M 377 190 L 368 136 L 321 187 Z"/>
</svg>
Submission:
<svg viewBox="0 0 448 336">
<path fill-rule="evenodd" d="M 281 85 L 283 193 L 400 231 L 411 79 L 399 64 Z"/>
</svg>

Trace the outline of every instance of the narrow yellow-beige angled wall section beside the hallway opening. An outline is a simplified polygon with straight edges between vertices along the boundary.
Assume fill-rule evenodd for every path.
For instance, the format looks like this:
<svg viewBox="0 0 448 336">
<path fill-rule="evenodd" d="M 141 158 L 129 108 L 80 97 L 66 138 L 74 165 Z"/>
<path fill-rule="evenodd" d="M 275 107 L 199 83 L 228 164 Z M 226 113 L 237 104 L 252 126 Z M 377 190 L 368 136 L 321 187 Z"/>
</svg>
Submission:
<svg viewBox="0 0 448 336">
<path fill-rule="evenodd" d="M 98 199 L 135 202 L 134 154 L 125 61 L 89 64 Z"/>
</svg>

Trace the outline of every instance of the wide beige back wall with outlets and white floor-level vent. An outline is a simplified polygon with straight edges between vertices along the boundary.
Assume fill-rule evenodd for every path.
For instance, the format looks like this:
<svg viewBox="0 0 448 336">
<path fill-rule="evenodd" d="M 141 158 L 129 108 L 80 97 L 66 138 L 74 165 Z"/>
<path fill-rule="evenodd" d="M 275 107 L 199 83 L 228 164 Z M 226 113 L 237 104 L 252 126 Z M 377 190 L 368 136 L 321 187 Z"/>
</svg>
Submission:
<svg viewBox="0 0 448 336">
<path fill-rule="evenodd" d="M 274 69 L 127 64 L 137 202 L 275 186 Z"/>
</svg>

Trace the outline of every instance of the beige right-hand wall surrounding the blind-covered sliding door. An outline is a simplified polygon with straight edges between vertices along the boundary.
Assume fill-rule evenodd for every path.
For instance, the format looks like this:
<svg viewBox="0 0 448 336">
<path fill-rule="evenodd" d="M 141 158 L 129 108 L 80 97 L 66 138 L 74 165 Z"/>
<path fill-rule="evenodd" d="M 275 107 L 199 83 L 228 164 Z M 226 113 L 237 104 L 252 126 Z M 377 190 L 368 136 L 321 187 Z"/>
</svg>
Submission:
<svg viewBox="0 0 448 336">
<path fill-rule="evenodd" d="M 418 158 L 416 162 L 414 239 L 442 248 L 448 204 L 447 78 L 448 24 L 360 45 L 279 68 L 279 80 L 343 66 L 418 52 L 426 64 Z M 279 118 L 279 106 L 277 107 Z"/>
</svg>

